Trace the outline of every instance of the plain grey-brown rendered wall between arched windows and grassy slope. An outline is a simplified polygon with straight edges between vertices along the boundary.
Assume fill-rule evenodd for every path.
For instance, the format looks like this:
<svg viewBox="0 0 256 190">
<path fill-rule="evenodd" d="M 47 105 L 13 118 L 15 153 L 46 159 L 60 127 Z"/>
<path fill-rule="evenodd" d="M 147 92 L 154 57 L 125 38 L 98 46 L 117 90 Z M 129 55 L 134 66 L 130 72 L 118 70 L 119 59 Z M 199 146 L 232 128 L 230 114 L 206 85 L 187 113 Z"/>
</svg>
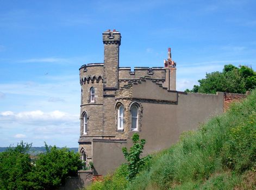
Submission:
<svg viewBox="0 0 256 190">
<path fill-rule="evenodd" d="M 178 94 L 178 104 L 142 102 L 140 137 L 146 140 L 143 155 L 170 147 L 183 131 L 223 112 L 223 94 Z M 132 136 L 132 132 L 130 133 Z M 129 142 L 128 142 L 129 144 Z"/>
</svg>

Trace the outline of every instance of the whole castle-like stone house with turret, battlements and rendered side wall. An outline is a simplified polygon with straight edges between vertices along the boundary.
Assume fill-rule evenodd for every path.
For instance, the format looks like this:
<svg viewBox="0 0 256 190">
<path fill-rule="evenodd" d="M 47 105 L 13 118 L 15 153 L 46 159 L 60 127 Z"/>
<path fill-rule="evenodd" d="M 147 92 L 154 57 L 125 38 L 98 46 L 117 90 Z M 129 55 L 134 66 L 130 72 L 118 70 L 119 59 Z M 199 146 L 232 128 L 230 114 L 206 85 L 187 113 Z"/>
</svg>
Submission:
<svg viewBox="0 0 256 190">
<path fill-rule="evenodd" d="M 181 132 L 223 112 L 223 93 L 176 91 L 176 62 L 171 49 L 164 67 L 119 67 L 121 34 L 103 33 L 104 62 L 80 67 L 79 152 L 99 174 L 123 162 L 121 148 L 139 132 L 144 154 L 177 142 Z"/>
</svg>

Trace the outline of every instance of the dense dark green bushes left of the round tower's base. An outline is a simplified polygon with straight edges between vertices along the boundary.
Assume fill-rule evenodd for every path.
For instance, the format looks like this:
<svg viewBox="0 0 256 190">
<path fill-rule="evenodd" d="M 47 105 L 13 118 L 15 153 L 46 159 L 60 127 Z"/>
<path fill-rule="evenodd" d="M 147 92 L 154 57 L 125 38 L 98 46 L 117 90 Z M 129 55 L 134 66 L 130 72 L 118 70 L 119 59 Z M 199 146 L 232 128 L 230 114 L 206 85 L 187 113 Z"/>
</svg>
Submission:
<svg viewBox="0 0 256 190">
<path fill-rule="evenodd" d="M 0 153 L 0 189 L 55 189 L 82 166 L 79 155 L 67 148 L 48 147 L 35 161 L 31 144 L 17 144 Z"/>
</svg>

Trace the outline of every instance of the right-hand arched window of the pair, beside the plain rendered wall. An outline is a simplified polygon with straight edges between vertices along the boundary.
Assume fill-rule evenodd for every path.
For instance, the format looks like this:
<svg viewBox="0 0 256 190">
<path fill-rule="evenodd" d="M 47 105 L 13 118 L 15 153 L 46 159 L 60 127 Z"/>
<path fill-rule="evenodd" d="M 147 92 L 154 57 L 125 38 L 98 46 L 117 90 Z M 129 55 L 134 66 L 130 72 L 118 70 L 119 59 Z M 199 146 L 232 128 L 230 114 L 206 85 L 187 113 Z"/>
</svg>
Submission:
<svg viewBox="0 0 256 190">
<path fill-rule="evenodd" d="M 132 112 L 132 109 L 134 109 L 134 106 L 137 109 L 137 114 L 134 116 L 134 112 Z M 129 110 L 130 110 L 130 130 L 131 131 L 141 131 L 142 129 L 142 117 L 143 117 L 143 106 L 140 102 L 131 102 L 129 104 Z M 136 128 L 135 126 L 135 119 L 136 119 Z"/>
</svg>

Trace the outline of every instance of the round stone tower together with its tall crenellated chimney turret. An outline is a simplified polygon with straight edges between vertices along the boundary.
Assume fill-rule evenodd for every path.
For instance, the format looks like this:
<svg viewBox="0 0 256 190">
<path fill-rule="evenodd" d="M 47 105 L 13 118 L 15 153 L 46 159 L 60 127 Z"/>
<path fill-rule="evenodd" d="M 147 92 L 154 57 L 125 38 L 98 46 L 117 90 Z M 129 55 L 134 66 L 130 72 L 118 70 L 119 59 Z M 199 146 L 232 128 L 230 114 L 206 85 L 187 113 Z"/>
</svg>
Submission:
<svg viewBox="0 0 256 190">
<path fill-rule="evenodd" d="M 104 31 L 104 63 L 80 67 L 81 105 L 79 153 L 92 161 L 92 140 L 115 137 L 115 91 L 118 89 L 121 34 Z"/>
</svg>

